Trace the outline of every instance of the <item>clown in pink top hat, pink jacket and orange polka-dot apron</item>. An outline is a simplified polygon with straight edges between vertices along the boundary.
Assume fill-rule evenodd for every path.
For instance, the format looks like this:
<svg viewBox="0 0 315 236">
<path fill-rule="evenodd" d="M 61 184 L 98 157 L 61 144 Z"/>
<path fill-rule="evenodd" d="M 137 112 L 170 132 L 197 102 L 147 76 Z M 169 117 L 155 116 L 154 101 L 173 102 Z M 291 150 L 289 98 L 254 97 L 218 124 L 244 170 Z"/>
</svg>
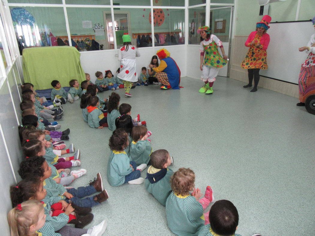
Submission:
<svg viewBox="0 0 315 236">
<path fill-rule="evenodd" d="M 256 24 L 256 31 L 249 34 L 245 46 L 249 47 L 247 55 L 241 67 L 247 69 L 248 71 L 248 84 L 244 85 L 244 88 L 253 86 L 254 88 L 250 92 L 256 92 L 259 82 L 259 70 L 266 70 L 267 65 L 267 48 L 270 42 L 269 34 L 266 31 L 270 28 L 269 24 L 271 17 L 269 15 L 264 15 L 260 22 Z"/>
</svg>

